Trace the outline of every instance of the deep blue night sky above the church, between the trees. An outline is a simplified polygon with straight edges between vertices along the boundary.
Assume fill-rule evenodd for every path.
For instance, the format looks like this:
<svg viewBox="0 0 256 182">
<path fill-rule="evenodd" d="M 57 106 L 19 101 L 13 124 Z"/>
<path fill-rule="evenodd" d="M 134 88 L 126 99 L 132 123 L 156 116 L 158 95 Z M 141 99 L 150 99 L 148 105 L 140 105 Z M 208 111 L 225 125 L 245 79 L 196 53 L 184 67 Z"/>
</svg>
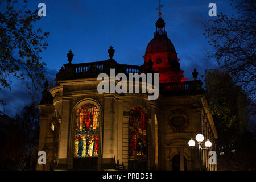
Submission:
<svg viewBox="0 0 256 182">
<path fill-rule="evenodd" d="M 142 65 L 147 44 L 154 36 L 158 19 L 157 0 L 141 1 L 82 1 L 82 0 L 33 0 L 28 9 L 38 9 L 46 4 L 46 17 L 35 24 L 50 32 L 48 48 L 40 55 L 47 66 L 46 76 L 53 80 L 63 64 L 68 63 L 67 53 L 74 53 L 72 63 L 86 63 L 109 59 L 107 50 L 115 49 L 113 59 L 121 64 Z M 200 75 L 205 69 L 214 68 L 214 60 L 207 58 L 212 51 L 203 35 L 207 23 L 209 3 L 216 3 L 217 14 L 231 15 L 231 0 L 162 0 L 162 18 L 166 22 L 167 36 L 175 46 L 184 77 L 192 80 L 193 68 Z M 7 106 L 5 113 L 14 117 L 24 104 L 31 102 L 25 86 L 14 81 L 13 90 L 0 90 Z M 39 99 L 40 100 L 40 99 Z M 3 111 L 3 106 L 0 111 Z"/>
</svg>

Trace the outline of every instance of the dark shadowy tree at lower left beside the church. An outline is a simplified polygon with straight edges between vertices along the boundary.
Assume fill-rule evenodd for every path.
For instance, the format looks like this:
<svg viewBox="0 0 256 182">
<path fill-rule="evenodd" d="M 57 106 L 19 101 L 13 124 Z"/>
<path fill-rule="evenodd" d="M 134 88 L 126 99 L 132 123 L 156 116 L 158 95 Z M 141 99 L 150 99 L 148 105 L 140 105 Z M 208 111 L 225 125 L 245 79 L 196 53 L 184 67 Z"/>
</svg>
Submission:
<svg viewBox="0 0 256 182">
<path fill-rule="evenodd" d="M 2 134 L 0 163 L 7 170 L 35 170 L 38 158 L 39 109 L 34 102 L 10 121 Z"/>
</svg>

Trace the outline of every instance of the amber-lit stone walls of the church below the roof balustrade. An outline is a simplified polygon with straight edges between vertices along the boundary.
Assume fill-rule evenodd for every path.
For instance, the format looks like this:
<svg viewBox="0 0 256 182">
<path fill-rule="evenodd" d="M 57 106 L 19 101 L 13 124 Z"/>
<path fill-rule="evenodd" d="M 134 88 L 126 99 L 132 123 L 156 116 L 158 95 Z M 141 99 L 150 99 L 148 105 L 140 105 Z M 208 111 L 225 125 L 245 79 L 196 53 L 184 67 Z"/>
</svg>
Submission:
<svg viewBox="0 0 256 182">
<path fill-rule="evenodd" d="M 73 169 L 73 143 L 75 140 L 76 110 L 86 103 L 100 108 L 100 143 L 98 169 L 114 164 L 123 164 L 128 169 L 129 112 L 134 106 L 141 106 L 147 114 L 147 169 L 172 170 L 172 158 L 180 156 L 180 169 L 199 169 L 198 151 L 188 146 L 188 141 L 202 133 L 212 141 L 210 150 L 215 150 L 217 133 L 211 115 L 207 110 L 204 94 L 183 96 L 162 96 L 148 100 L 147 94 L 100 94 L 97 78 L 58 81 L 59 86 L 50 92 L 53 104 L 41 104 L 41 126 L 39 151 L 47 154 L 47 164 L 38 165 L 38 170 Z M 175 126 L 172 118 L 181 116 L 183 126 Z M 57 167 L 52 168 L 53 132 L 51 124 L 60 123 Z M 184 167 L 185 156 L 187 167 Z M 203 152 L 205 168 L 215 170 L 208 164 L 207 151 Z M 113 167 L 112 167 L 113 168 Z"/>
</svg>

